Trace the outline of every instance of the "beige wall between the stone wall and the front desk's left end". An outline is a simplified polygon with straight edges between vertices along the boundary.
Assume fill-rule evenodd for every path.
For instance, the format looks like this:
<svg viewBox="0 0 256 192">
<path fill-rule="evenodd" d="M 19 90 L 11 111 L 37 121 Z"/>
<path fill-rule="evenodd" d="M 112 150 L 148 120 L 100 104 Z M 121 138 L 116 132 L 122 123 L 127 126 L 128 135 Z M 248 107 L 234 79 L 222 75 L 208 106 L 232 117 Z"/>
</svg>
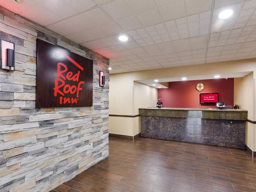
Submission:
<svg viewBox="0 0 256 192">
<path fill-rule="evenodd" d="M 123 82 L 128 81 L 128 85 Z M 131 84 L 133 82 L 133 84 Z M 155 106 L 157 89 L 127 75 L 110 75 L 110 114 L 138 115 L 140 107 Z M 134 136 L 140 133 L 140 117 L 109 117 L 110 133 Z"/>
</svg>

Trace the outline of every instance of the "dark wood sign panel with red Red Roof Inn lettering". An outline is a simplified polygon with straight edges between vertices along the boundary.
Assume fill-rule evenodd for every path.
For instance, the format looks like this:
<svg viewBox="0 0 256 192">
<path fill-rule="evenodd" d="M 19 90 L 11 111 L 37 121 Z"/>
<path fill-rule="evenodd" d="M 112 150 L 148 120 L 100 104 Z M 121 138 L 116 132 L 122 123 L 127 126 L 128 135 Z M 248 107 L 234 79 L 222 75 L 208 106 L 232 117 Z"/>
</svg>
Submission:
<svg viewBox="0 0 256 192">
<path fill-rule="evenodd" d="M 93 61 L 37 39 L 36 107 L 92 106 Z"/>
</svg>

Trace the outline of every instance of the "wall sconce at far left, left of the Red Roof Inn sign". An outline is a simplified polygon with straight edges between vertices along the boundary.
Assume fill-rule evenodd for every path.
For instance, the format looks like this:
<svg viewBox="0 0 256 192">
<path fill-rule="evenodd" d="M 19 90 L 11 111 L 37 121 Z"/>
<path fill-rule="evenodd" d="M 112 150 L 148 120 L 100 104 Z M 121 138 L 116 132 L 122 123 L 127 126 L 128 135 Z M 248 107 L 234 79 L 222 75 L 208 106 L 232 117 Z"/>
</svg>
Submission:
<svg viewBox="0 0 256 192">
<path fill-rule="evenodd" d="M 14 43 L 1 39 L 1 65 L 0 69 L 15 71 Z"/>
</svg>

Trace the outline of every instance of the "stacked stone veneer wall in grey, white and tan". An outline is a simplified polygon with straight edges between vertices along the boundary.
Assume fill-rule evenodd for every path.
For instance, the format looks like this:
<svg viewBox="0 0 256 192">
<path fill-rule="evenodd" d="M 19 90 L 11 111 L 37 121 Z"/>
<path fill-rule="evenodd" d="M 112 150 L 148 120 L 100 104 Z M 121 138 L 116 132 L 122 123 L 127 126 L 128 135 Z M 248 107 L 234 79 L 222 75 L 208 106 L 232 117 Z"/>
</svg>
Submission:
<svg viewBox="0 0 256 192">
<path fill-rule="evenodd" d="M 15 43 L 15 72 L 0 70 L 0 192 L 50 191 L 108 156 L 109 59 L 1 6 L 0 38 Z M 92 107 L 35 108 L 36 38 L 93 60 Z"/>
</svg>

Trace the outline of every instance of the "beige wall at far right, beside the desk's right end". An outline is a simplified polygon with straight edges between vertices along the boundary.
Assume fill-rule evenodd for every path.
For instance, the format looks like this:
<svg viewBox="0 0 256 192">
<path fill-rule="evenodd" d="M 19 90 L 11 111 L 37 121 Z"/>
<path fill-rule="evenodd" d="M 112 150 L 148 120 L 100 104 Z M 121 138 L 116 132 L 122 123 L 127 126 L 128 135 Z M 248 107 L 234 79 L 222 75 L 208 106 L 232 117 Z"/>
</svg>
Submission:
<svg viewBox="0 0 256 192">
<path fill-rule="evenodd" d="M 239 108 L 248 110 L 248 119 L 255 121 L 255 78 L 253 73 L 245 77 L 234 78 L 234 104 Z M 246 123 L 246 145 L 256 150 L 256 125 Z"/>
</svg>

